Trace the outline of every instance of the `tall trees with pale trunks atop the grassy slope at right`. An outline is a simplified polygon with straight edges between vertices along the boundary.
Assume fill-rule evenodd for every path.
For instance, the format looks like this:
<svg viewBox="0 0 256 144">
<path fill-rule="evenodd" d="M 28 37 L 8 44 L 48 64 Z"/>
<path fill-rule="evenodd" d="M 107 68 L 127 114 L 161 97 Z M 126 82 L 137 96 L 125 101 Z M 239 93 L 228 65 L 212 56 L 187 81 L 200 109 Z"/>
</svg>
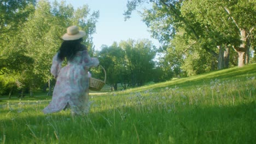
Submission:
<svg viewBox="0 0 256 144">
<path fill-rule="evenodd" d="M 126 19 L 145 3 L 152 7 L 141 16 L 164 45 L 163 61 L 184 75 L 255 62 L 255 1 L 130 0 Z"/>
</svg>

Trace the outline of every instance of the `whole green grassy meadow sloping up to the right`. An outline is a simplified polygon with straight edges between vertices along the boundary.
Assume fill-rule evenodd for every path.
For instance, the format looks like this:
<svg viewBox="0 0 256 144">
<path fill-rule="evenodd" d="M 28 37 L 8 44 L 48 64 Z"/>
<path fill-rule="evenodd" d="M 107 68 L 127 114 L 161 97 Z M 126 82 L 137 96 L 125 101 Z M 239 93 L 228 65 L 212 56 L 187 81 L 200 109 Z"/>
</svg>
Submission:
<svg viewBox="0 0 256 144">
<path fill-rule="evenodd" d="M 87 116 L 43 115 L 50 97 L 0 101 L 0 143 L 254 143 L 256 64 L 91 93 Z"/>
</svg>

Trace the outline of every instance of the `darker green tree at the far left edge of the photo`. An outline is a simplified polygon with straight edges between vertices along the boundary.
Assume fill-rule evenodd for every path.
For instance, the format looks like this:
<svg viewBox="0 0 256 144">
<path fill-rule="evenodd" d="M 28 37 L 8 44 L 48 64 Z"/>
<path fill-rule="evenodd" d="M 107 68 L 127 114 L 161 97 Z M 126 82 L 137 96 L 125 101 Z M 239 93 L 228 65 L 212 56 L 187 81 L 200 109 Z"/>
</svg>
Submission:
<svg viewBox="0 0 256 144">
<path fill-rule="evenodd" d="M 27 20 L 28 15 L 33 13 L 35 4 L 36 0 L 11 0 L 0 3 L 0 75 L 4 74 L 9 66 L 12 70 L 20 69 L 19 64 L 9 63 L 15 52 L 18 56 L 22 55 L 21 51 L 10 53 L 10 49 L 13 48 L 10 43 L 14 41 L 15 35 L 22 28 L 22 23 Z M 20 63 L 26 63 L 26 61 L 20 61 Z"/>
</svg>

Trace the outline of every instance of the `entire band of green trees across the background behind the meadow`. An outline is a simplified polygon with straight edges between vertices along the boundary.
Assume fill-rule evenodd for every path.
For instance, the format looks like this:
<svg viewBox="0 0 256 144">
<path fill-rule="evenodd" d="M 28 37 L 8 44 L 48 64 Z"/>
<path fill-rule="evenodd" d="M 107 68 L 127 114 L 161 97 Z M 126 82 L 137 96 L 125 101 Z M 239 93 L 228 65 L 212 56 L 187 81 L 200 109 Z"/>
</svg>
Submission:
<svg viewBox="0 0 256 144">
<path fill-rule="evenodd" d="M 88 5 L 74 9 L 64 1 L 1 2 L 0 94 L 27 91 L 32 95 L 46 88 L 50 94 L 51 60 L 71 25 L 86 32 L 83 44 L 91 56 L 100 59 L 112 90 L 117 83 L 125 89 L 255 62 L 254 1 L 132 0 L 125 18 L 144 3 L 152 8 L 141 11 L 141 16 L 161 47 L 147 39 L 129 39 L 95 51 L 92 34 L 99 11 L 91 12 Z M 93 77 L 104 79 L 100 68 L 90 71 Z"/>
</svg>

